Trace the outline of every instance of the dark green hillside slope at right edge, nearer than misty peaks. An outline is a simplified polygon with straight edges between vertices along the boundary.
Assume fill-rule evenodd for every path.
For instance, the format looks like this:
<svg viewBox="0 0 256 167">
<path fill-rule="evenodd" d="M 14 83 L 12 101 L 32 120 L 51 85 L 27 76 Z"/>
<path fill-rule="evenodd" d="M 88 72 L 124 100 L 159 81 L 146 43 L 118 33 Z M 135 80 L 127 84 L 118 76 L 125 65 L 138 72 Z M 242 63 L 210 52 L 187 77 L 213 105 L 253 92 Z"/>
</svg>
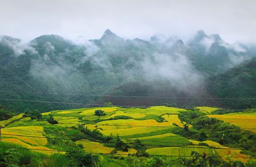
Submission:
<svg viewBox="0 0 256 167">
<path fill-rule="evenodd" d="M 247 60 L 208 81 L 207 92 L 218 98 L 256 98 L 256 58 Z M 253 108 L 255 100 L 220 100 L 225 107 Z"/>
</svg>

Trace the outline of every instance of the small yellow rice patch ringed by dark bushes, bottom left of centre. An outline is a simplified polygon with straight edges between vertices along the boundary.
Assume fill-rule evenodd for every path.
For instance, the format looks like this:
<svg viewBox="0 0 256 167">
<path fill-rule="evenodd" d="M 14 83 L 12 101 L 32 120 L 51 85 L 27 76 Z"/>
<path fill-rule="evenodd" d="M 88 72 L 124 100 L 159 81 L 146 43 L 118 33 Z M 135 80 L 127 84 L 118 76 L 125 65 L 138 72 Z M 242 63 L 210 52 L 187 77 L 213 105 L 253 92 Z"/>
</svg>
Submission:
<svg viewBox="0 0 256 167">
<path fill-rule="evenodd" d="M 94 141 L 76 141 L 76 144 L 82 144 L 84 150 L 87 153 L 111 153 L 115 148 L 105 147 L 103 143 L 98 143 Z"/>
</svg>

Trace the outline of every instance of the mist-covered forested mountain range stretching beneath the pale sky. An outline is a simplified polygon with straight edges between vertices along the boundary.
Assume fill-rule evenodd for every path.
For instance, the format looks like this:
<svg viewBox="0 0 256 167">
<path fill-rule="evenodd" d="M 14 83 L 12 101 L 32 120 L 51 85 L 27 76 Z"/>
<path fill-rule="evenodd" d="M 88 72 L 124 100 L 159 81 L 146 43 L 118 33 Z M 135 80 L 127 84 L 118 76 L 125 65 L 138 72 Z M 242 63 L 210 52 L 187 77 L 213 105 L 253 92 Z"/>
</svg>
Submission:
<svg viewBox="0 0 256 167">
<path fill-rule="evenodd" d="M 58 35 L 42 35 L 23 43 L 20 39 L 1 36 L 0 90 L 218 97 L 220 94 L 213 94 L 207 89 L 209 77 L 254 57 L 255 45 L 230 44 L 218 34 L 207 35 L 202 30 L 186 43 L 178 37 L 166 38 L 162 34 L 152 36 L 149 41 L 138 38 L 124 40 L 110 30 L 97 40 L 85 40 L 83 37 L 67 40 Z M 192 105 L 197 102 L 6 92 L 1 92 L 0 98 L 94 104 L 112 101 L 115 105 L 159 105 L 163 102 Z M 20 110 L 38 108 L 38 104 L 28 102 L 0 102 L 7 107 L 19 104 Z M 205 101 L 205 104 L 211 103 Z M 41 104 L 42 111 L 58 107 L 70 106 Z"/>
</svg>

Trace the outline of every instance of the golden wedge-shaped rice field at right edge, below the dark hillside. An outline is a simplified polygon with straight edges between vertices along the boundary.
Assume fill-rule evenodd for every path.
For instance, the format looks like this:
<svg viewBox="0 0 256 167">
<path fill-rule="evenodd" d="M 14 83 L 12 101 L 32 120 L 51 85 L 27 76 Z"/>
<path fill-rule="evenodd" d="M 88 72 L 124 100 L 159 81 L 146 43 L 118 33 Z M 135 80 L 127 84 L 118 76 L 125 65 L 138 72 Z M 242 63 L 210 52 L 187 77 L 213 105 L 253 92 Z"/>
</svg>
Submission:
<svg viewBox="0 0 256 167">
<path fill-rule="evenodd" d="M 239 126 L 245 130 L 256 133 L 256 129 L 246 129 L 246 128 L 256 128 L 256 113 L 232 113 L 223 115 L 207 115 L 210 118 L 216 118 L 223 120 L 225 122 Z"/>
</svg>

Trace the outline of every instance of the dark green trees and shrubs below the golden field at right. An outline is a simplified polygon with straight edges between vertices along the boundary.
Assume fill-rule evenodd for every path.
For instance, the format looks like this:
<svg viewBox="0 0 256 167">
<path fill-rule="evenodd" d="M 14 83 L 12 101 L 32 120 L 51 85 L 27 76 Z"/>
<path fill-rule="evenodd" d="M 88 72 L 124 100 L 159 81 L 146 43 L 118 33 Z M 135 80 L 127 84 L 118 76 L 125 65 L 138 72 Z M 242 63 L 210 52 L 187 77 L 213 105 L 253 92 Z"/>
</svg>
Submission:
<svg viewBox="0 0 256 167">
<path fill-rule="evenodd" d="M 193 140 L 212 140 L 228 147 L 241 147 L 244 154 L 256 156 L 256 134 L 242 130 L 222 120 L 209 118 L 201 112 L 183 112 L 179 119 L 193 128 L 176 130 L 174 133 Z M 184 127 L 187 125 L 184 125 Z"/>
</svg>

